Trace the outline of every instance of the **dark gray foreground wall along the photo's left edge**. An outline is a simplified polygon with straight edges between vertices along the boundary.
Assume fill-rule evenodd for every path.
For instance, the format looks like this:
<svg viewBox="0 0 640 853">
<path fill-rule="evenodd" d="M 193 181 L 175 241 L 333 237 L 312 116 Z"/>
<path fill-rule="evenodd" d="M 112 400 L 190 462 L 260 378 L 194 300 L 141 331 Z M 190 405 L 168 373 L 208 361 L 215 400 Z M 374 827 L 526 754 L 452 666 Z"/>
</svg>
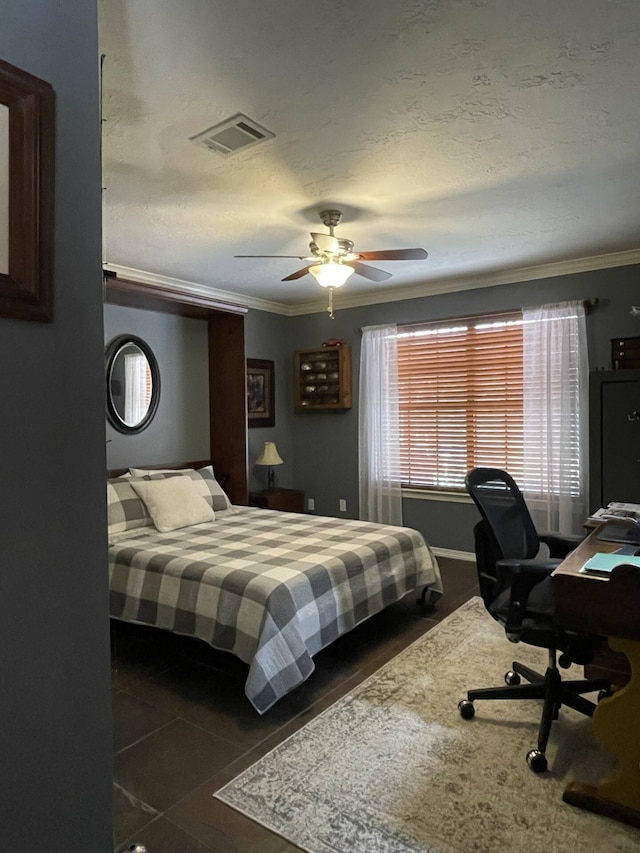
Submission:
<svg viewBox="0 0 640 853">
<path fill-rule="evenodd" d="M 95 3 L 0 0 L 56 93 L 54 320 L 0 318 L 0 847 L 113 849 Z"/>
</svg>

